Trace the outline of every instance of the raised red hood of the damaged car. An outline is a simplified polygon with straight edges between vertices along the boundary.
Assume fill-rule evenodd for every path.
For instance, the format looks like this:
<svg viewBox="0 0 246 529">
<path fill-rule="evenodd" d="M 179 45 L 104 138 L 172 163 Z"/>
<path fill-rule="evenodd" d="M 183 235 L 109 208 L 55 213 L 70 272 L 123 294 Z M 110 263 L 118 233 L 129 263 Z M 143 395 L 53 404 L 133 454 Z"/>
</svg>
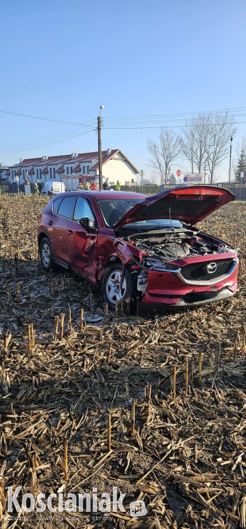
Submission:
<svg viewBox="0 0 246 529">
<path fill-rule="evenodd" d="M 171 218 L 196 224 L 236 196 L 223 187 L 212 185 L 177 186 L 148 196 L 115 222 L 115 229 L 130 222 L 154 218 Z"/>
</svg>

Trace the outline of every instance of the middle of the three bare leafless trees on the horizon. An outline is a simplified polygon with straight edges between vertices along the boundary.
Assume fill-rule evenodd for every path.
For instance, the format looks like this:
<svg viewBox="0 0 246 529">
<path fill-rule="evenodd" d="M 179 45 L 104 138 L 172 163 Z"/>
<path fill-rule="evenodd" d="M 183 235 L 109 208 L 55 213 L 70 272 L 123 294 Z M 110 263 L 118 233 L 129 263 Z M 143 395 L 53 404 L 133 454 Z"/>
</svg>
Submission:
<svg viewBox="0 0 246 529">
<path fill-rule="evenodd" d="M 192 119 L 189 125 L 183 128 L 183 136 L 181 136 L 180 140 L 181 151 L 189 160 L 192 173 L 194 165 L 197 167 L 198 172 L 201 173 L 201 168 L 206 162 L 206 145 L 208 142 L 206 118 L 205 114 L 199 114 L 199 116 Z"/>
</svg>

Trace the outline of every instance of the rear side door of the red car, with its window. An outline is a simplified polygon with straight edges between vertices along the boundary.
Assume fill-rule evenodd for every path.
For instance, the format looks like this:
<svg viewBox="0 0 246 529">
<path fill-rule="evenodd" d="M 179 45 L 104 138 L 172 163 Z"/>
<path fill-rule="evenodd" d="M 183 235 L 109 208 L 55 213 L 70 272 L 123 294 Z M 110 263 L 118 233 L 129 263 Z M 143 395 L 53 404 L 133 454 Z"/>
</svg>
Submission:
<svg viewBox="0 0 246 529">
<path fill-rule="evenodd" d="M 74 237 L 74 222 L 72 222 L 74 214 L 74 206 L 76 203 L 76 196 L 65 196 L 61 201 L 56 218 L 54 238 L 55 238 L 55 252 L 54 257 L 58 260 L 71 263 L 71 249 Z"/>
</svg>

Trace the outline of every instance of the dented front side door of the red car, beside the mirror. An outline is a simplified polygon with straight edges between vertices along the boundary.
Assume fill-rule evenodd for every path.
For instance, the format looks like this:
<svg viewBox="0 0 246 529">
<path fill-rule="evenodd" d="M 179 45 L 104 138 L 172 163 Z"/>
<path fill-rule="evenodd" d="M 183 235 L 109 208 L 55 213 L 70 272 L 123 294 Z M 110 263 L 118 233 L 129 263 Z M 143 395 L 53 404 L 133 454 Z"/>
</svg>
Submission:
<svg viewBox="0 0 246 529">
<path fill-rule="evenodd" d="M 89 218 L 95 227 L 88 232 L 80 225 L 81 218 Z M 78 196 L 73 217 L 74 237 L 71 246 L 71 267 L 74 271 L 95 282 L 97 269 L 97 238 L 96 218 L 87 198 Z"/>
</svg>

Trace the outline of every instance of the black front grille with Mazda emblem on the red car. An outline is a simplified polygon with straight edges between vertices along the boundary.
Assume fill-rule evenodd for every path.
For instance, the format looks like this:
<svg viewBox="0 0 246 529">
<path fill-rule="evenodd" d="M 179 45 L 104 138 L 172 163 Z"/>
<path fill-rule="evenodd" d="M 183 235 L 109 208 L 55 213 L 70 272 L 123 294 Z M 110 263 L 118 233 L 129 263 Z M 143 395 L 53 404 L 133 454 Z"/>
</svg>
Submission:
<svg viewBox="0 0 246 529">
<path fill-rule="evenodd" d="M 207 266 L 210 262 L 216 262 L 217 268 L 213 273 L 208 273 Z M 181 268 L 181 276 L 188 281 L 210 281 L 225 276 L 234 263 L 233 259 L 221 259 L 216 261 L 194 262 L 186 264 Z"/>
</svg>

